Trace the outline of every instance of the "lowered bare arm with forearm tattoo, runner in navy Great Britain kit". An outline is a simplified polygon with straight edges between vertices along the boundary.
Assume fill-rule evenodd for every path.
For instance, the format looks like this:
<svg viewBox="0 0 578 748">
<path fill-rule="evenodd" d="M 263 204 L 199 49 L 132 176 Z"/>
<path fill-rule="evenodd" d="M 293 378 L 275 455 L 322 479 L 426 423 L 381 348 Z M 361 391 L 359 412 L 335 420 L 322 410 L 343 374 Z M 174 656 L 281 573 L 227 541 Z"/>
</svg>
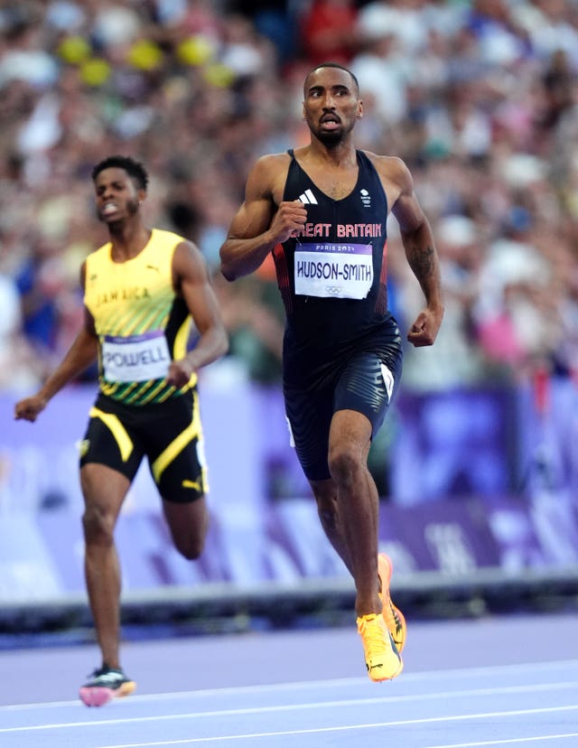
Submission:
<svg viewBox="0 0 578 748">
<path fill-rule="evenodd" d="M 412 324 L 407 340 L 415 347 L 432 345 L 443 320 L 443 293 L 439 258 L 432 229 L 414 192 L 411 173 L 398 158 L 378 159 L 387 200 L 401 233 L 409 266 L 425 296 L 425 308 Z M 374 162 L 375 163 L 375 162 Z"/>
</svg>

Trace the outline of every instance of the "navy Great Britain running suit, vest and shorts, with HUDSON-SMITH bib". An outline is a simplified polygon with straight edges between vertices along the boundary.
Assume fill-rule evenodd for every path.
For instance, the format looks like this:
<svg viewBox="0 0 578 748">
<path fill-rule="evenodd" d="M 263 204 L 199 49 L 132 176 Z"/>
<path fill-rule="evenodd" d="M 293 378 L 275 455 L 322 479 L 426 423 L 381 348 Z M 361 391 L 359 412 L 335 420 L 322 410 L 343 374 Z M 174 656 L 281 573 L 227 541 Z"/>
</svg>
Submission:
<svg viewBox="0 0 578 748">
<path fill-rule="evenodd" d="M 297 238 L 274 249 L 286 312 L 285 413 L 303 472 L 322 481 L 330 477 L 333 414 L 358 411 L 375 435 L 396 391 L 403 351 L 387 311 L 387 197 L 375 167 L 358 151 L 357 184 L 332 200 L 289 154 L 284 200 L 301 200 L 307 222 Z"/>
</svg>

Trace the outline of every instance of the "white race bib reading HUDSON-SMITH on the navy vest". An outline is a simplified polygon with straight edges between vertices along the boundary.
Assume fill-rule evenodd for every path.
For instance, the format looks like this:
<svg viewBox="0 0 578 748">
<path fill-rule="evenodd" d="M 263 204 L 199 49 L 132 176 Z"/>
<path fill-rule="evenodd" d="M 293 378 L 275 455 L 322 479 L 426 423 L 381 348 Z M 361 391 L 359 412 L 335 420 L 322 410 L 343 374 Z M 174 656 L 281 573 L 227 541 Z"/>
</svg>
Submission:
<svg viewBox="0 0 578 748">
<path fill-rule="evenodd" d="M 295 294 L 365 299 L 373 284 L 370 244 L 299 244 Z"/>
</svg>

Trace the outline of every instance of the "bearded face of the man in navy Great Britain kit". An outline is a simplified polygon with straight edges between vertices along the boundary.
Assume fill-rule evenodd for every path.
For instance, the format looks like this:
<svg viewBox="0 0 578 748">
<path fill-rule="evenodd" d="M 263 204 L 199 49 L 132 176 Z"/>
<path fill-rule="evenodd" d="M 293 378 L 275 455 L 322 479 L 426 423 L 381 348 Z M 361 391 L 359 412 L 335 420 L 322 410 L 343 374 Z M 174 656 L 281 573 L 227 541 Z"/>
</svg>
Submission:
<svg viewBox="0 0 578 748">
<path fill-rule="evenodd" d="M 337 145 L 361 117 L 362 102 L 347 70 L 318 68 L 305 79 L 303 117 L 324 145 Z"/>
</svg>

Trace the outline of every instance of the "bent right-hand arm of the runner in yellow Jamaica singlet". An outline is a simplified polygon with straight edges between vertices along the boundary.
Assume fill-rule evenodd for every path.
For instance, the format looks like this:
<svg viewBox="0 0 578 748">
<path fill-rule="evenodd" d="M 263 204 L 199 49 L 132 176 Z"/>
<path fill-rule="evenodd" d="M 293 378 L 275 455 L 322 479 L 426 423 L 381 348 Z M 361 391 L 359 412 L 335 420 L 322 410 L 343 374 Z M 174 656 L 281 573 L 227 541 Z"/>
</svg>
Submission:
<svg viewBox="0 0 578 748">
<path fill-rule="evenodd" d="M 172 257 L 173 283 L 182 294 L 200 338 L 193 351 L 172 361 L 167 381 L 183 387 L 193 371 L 219 359 L 228 351 L 228 337 L 219 312 L 217 296 L 210 283 L 207 264 L 200 249 L 190 241 L 183 241 Z"/>
</svg>

